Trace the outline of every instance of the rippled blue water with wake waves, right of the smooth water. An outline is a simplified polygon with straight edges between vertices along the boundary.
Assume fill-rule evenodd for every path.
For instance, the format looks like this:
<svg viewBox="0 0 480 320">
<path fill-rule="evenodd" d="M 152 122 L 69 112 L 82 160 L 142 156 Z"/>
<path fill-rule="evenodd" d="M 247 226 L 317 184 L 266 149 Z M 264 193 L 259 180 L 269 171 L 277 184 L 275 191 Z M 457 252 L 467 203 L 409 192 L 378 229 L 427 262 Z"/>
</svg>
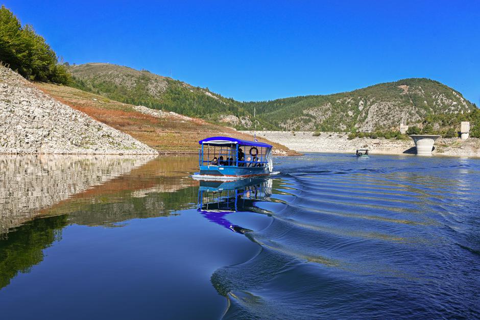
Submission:
<svg viewBox="0 0 480 320">
<path fill-rule="evenodd" d="M 479 317 L 480 160 L 282 158 L 225 318 Z"/>
</svg>

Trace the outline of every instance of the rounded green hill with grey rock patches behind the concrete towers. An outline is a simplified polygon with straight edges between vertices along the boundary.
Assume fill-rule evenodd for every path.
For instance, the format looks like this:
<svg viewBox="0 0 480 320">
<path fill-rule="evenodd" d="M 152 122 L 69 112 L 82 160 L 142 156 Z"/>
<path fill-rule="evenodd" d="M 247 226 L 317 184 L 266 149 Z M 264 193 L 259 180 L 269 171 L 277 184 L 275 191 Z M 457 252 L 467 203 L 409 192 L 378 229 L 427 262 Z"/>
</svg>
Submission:
<svg viewBox="0 0 480 320">
<path fill-rule="evenodd" d="M 463 114 L 476 109 L 462 94 L 438 81 L 404 79 L 350 92 L 298 96 L 244 104 L 261 119 L 286 130 L 350 131 L 389 129 L 430 114 Z"/>
</svg>

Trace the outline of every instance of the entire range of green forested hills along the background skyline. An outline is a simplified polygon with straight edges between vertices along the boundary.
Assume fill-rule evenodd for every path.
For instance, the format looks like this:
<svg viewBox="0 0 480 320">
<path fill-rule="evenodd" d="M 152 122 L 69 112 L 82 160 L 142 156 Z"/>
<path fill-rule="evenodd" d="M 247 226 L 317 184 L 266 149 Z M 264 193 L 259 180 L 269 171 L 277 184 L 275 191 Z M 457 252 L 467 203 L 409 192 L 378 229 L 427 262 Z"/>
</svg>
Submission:
<svg viewBox="0 0 480 320">
<path fill-rule="evenodd" d="M 476 109 L 462 94 L 429 79 L 404 79 L 350 92 L 242 103 L 142 70 L 107 63 L 70 66 L 74 86 L 112 100 L 144 105 L 252 129 L 311 131 L 387 130 L 430 115 L 461 115 Z"/>
</svg>

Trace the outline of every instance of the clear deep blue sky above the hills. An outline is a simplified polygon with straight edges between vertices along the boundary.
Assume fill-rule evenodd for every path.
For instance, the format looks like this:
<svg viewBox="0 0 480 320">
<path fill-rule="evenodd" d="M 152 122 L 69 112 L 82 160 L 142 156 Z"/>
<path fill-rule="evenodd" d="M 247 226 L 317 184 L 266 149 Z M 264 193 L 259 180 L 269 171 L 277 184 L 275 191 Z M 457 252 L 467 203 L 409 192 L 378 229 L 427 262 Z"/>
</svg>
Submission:
<svg viewBox="0 0 480 320">
<path fill-rule="evenodd" d="M 480 105 L 480 1 L 4 4 L 69 63 L 172 75 L 242 101 L 425 77 Z"/>
</svg>

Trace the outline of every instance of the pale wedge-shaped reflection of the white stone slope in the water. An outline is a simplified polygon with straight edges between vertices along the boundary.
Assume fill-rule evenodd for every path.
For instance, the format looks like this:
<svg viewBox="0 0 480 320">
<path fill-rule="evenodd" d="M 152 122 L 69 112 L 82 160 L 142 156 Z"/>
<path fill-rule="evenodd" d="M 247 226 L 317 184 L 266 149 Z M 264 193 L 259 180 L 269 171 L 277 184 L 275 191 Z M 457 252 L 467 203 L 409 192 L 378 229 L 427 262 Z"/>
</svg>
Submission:
<svg viewBox="0 0 480 320">
<path fill-rule="evenodd" d="M 0 156 L 0 233 L 153 156 Z"/>
</svg>

